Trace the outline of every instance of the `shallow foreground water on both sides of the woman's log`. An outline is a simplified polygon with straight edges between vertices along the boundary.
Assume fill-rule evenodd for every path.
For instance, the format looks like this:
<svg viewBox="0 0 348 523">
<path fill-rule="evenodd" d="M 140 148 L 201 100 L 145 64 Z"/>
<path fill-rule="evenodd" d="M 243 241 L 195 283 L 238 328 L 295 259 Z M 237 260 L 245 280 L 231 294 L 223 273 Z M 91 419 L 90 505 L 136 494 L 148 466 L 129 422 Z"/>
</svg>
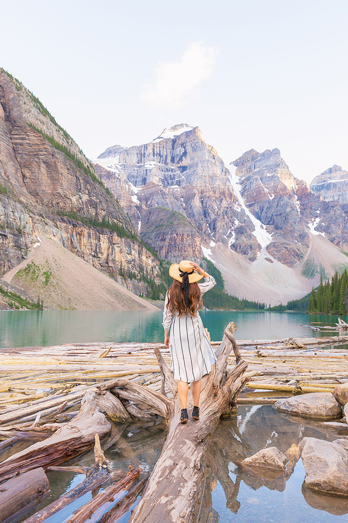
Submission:
<svg viewBox="0 0 348 523">
<path fill-rule="evenodd" d="M 318 428 L 319 427 L 319 428 Z M 111 471 L 128 471 L 128 465 L 140 466 L 149 475 L 159 457 L 165 439 L 161 425 L 147 427 L 121 427 L 122 441 L 116 441 L 105 457 Z M 343 523 L 348 520 L 348 499 L 318 495 L 304 486 L 305 471 L 299 458 L 298 445 L 304 437 L 315 437 L 332 441 L 336 439 L 320 427 L 306 425 L 296 418 L 278 414 L 270 405 L 243 405 L 237 415 L 222 420 L 215 431 L 207 451 L 205 465 L 206 481 L 198 523 Z M 19 445 L 20 443 L 18 442 Z M 267 447 L 277 447 L 289 459 L 287 470 L 278 477 L 251 476 L 238 463 L 255 452 Z M 15 446 L 11 450 L 13 452 Z M 1 457 L 7 457 L 3 451 Z M 74 461 L 83 466 L 93 464 L 93 452 Z M 47 472 L 51 492 L 37 507 L 37 511 L 70 490 L 84 479 L 84 475 L 62 472 Z M 103 491 L 103 485 L 99 492 Z M 119 494 L 121 497 L 122 493 Z M 45 520 L 45 523 L 67 521 L 73 510 L 87 503 L 92 497 L 89 492 L 73 504 Z M 115 503 L 118 498 L 115 499 Z M 108 507 L 110 508 L 110 506 Z M 134 508 L 132 506 L 131 508 Z M 92 516 L 90 523 L 98 518 Z M 26 519 L 28 515 L 22 518 Z M 126 523 L 128 511 L 117 519 Z M 19 523 L 19 521 L 18 521 Z M 115 522 L 116 523 L 116 522 Z M 150 521 L 149 521 L 150 523 Z"/>
</svg>

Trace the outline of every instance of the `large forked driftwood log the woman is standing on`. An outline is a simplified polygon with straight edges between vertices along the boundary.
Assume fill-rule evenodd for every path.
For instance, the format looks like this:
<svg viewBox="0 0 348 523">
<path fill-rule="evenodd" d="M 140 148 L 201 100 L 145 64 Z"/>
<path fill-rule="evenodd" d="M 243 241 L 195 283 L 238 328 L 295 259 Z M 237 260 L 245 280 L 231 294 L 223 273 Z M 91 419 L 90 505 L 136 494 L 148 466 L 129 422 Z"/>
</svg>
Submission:
<svg viewBox="0 0 348 523">
<path fill-rule="evenodd" d="M 119 397 L 136 404 L 149 405 L 166 421 L 167 437 L 160 458 L 147 483 L 146 490 L 129 520 L 142 523 L 191 523 L 197 519 L 205 478 L 205 451 L 222 415 L 233 412 L 236 400 L 247 378 L 242 375 L 247 363 L 241 360 L 231 322 L 217 351 L 218 360 L 208 376 L 202 379 L 200 420 L 190 419 L 179 424 L 181 405 L 177 384 L 159 350 L 156 355 L 162 373 L 162 391 L 167 389 L 173 397 L 155 392 L 138 383 L 116 379 L 100 385 L 100 391 L 110 388 Z M 237 365 L 227 372 L 227 358 L 234 351 Z M 188 410 L 193 402 L 189 395 Z"/>
</svg>

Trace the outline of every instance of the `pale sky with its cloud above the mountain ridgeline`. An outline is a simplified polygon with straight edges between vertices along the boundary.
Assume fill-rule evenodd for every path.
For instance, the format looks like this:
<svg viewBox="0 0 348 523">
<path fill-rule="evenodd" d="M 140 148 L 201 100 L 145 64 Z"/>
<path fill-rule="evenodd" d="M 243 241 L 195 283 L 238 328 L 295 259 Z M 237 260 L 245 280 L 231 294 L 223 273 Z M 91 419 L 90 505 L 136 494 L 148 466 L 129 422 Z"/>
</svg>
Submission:
<svg viewBox="0 0 348 523">
<path fill-rule="evenodd" d="M 346 0 L 0 1 L 0 66 L 90 158 L 175 123 L 225 163 L 278 147 L 348 170 Z"/>
</svg>

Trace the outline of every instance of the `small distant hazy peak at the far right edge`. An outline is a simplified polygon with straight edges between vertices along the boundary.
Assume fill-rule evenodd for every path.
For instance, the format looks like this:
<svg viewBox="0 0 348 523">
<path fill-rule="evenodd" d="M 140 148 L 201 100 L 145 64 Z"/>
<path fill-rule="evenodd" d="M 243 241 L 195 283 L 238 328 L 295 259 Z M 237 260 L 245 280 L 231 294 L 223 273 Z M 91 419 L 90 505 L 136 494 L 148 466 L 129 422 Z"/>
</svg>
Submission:
<svg viewBox="0 0 348 523">
<path fill-rule="evenodd" d="M 311 181 L 310 190 L 325 201 L 348 203 L 348 172 L 333 165 Z"/>
</svg>

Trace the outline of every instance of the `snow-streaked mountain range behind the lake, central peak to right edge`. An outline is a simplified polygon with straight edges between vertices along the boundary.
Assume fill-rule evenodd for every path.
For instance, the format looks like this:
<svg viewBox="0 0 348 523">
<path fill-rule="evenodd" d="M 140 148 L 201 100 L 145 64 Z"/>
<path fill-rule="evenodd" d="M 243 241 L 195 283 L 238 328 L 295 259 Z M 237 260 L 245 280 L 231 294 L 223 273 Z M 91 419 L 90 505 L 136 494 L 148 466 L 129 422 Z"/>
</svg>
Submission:
<svg viewBox="0 0 348 523">
<path fill-rule="evenodd" d="M 208 256 L 239 297 L 297 298 L 346 265 L 344 206 L 295 178 L 278 149 L 252 149 L 229 170 L 197 127 L 180 124 L 147 144 L 110 147 L 96 164 L 162 257 Z"/>
</svg>

